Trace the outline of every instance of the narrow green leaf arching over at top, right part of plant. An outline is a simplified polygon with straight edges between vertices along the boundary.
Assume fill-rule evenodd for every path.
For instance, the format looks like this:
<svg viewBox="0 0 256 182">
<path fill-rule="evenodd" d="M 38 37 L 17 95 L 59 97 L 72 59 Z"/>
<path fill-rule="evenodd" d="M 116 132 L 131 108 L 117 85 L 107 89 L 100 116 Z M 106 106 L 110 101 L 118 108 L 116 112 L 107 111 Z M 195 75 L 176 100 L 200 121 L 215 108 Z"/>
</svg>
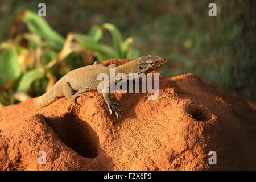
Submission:
<svg viewBox="0 0 256 182">
<path fill-rule="evenodd" d="M 115 47 L 115 50 L 117 51 L 117 55 L 119 58 L 125 58 L 125 57 L 122 57 L 122 37 L 121 37 L 121 34 L 119 32 L 119 30 L 117 29 L 117 27 L 115 27 L 113 24 L 110 24 L 110 23 L 104 23 L 103 24 L 103 27 L 105 29 L 107 29 L 110 34 L 112 35 L 112 39 L 113 39 L 113 43 L 114 43 L 114 47 Z"/>
</svg>

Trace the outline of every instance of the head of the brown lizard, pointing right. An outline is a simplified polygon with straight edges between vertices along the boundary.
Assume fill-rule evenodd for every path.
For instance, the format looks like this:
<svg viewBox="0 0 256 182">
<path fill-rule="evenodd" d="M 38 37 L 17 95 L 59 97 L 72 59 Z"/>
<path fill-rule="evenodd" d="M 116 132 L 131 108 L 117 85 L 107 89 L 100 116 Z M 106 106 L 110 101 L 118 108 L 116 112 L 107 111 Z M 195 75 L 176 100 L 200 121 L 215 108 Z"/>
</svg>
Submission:
<svg viewBox="0 0 256 182">
<path fill-rule="evenodd" d="M 155 68 L 159 68 L 167 63 L 167 60 L 163 57 L 148 55 L 143 57 L 138 57 L 138 72 L 148 73 Z M 136 60 L 136 59 L 134 59 Z"/>
</svg>

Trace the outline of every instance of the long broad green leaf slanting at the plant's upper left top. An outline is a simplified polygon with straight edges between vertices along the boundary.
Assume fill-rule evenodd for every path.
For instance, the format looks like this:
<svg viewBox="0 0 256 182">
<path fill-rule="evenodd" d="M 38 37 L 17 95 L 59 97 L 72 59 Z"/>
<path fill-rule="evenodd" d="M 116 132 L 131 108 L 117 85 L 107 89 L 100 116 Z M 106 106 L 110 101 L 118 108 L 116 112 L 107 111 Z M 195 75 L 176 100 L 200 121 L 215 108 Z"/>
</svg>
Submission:
<svg viewBox="0 0 256 182">
<path fill-rule="evenodd" d="M 63 47 L 65 42 L 63 36 L 53 30 L 46 20 L 38 16 L 38 14 L 32 11 L 24 11 L 21 20 L 27 24 L 28 30 L 53 43 L 57 49 Z"/>
</svg>

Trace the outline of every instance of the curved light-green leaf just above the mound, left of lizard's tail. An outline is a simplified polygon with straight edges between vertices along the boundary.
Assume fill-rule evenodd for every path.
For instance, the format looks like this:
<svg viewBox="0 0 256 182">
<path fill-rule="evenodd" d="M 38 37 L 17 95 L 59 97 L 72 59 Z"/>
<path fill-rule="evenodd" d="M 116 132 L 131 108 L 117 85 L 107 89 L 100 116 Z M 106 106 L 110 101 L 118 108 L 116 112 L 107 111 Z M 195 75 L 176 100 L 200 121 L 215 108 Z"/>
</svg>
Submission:
<svg viewBox="0 0 256 182">
<path fill-rule="evenodd" d="M 39 68 L 31 69 L 25 75 L 22 76 L 19 82 L 17 92 L 27 92 L 31 84 L 34 81 L 39 80 L 43 76 L 44 76 L 44 71 L 42 69 L 39 69 Z"/>
</svg>

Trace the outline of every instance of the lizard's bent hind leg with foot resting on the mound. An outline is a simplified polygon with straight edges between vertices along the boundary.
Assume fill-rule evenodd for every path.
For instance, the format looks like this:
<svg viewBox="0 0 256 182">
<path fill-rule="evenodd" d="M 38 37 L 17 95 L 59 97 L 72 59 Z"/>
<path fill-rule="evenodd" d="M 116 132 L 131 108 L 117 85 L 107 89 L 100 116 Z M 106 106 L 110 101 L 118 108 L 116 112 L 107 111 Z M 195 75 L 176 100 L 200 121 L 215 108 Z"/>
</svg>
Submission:
<svg viewBox="0 0 256 182">
<path fill-rule="evenodd" d="M 90 96 L 86 96 L 82 94 L 83 92 L 88 92 L 88 91 L 89 91 L 88 88 L 81 88 L 76 92 L 76 90 L 74 90 L 71 87 L 69 82 L 62 82 L 55 88 L 55 92 L 57 93 L 59 92 L 59 95 L 63 94 L 67 98 L 67 100 L 73 102 L 74 105 L 76 105 L 76 100 L 79 96 L 91 98 Z"/>
</svg>

